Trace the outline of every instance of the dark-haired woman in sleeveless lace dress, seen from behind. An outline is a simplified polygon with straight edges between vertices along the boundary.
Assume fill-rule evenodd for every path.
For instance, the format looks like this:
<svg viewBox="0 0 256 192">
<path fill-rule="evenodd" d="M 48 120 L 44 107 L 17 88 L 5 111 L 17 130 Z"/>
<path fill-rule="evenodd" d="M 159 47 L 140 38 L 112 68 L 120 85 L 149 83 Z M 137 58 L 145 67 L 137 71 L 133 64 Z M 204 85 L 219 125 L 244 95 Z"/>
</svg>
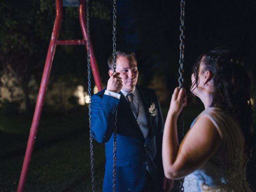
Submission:
<svg viewBox="0 0 256 192">
<path fill-rule="evenodd" d="M 250 192 L 246 163 L 253 146 L 253 112 L 248 74 L 235 54 L 217 48 L 199 56 L 191 80 L 190 90 L 205 110 L 179 145 L 177 119 L 186 93 L 174 90 L 162 144 L 166 178 L 185 177 L 185 192 Z"/>
</svg>

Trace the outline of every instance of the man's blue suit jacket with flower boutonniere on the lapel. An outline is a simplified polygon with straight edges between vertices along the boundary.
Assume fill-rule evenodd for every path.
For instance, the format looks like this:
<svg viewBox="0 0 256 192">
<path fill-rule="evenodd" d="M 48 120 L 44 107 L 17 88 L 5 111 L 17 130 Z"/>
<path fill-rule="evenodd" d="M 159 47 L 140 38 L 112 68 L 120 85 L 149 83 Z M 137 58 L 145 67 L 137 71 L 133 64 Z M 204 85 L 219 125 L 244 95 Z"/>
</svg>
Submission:
<svg viewBox="0 0 256 192">
<path fill-rule="evenodd" d="M 140 192 L 145 182 L 147 165 L 157 191 L 162 188 L 162 112 L 154 90 L 142 86 L 136 88 L 148 120 L 149 136 L 146 140 L 121 92 L 120 100 L 105 95 L 105 89 L 91 98 L 91 133 L 97 142 L 105 143 L 104 192 L 112 191 L 113 127 L 116 110 L 116 192 Z M 156 116 L 148 112 L 152 103 L 156 106 Z"/>
</svg>

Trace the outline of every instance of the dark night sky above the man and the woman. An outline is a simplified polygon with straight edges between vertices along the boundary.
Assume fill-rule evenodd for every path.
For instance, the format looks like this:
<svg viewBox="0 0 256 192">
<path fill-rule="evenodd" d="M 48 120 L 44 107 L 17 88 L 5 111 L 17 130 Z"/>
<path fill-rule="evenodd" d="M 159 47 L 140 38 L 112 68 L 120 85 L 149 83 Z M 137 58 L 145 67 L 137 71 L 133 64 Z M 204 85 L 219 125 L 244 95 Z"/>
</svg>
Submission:
<svg viewBox="0 0 256 192">
<path fill-rule="evenodd" d="M 168 73 L 178 76 L 180 1 L 119 0 L 117 3 L 117 48 L 134 51 L 142 70 L 149 65 L 154 71 L 164 69 L 167 76 Z M 255 1 L 190 0 L 186 1 L 185 12 L 186 76 L 190 77 L 198 55 L 216 46 L 238 50 L 242 60 L 247 61 L 246 68 L 255 70 Z M 112 44 L 106 55 L 101 56 L 107 58 L 111 53 Z"/>
</svg>

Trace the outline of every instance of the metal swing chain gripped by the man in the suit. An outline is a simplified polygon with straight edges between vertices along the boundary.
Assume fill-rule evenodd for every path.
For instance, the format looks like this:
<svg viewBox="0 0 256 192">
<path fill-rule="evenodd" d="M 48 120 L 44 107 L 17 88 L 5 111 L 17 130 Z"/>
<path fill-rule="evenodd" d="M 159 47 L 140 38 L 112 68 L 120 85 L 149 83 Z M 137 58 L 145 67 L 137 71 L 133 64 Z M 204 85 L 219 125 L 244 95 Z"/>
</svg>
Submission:
<svg viewBox="0 0 256 192">
<path fill-rule="evenodd" d="M 116 0 L 113 0 L 113 70 L 116 72 Z M 113 192 L 116 192 L 116 123 L 117 111 L 114 119 L 114 134 L 113 134 Z"/>
</svg>

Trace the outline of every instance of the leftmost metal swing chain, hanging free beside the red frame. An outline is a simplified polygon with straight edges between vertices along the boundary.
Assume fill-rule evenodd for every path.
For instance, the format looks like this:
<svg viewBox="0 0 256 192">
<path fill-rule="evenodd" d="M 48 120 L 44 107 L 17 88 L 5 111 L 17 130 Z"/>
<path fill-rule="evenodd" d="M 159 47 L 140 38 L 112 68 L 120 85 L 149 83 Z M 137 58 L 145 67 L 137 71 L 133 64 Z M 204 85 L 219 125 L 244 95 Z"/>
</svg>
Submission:
<svg viewBox="0 0 256 192">
<path fill-rule="evenodd" d="M 88 96 L 89 96 L 89 128 L 90 128 L 90 160 L 91 160 L 91 179 L 92 192 L 95 191 L 94 186 L 94 159 L 93 159 L 93 139 L 91 134 L 91 63 L 90 63 L 90 12 L 89 0 L 86 0 L 86 30 L 87 30 L 87 72 L 88 72 Z"/>
</svg>

